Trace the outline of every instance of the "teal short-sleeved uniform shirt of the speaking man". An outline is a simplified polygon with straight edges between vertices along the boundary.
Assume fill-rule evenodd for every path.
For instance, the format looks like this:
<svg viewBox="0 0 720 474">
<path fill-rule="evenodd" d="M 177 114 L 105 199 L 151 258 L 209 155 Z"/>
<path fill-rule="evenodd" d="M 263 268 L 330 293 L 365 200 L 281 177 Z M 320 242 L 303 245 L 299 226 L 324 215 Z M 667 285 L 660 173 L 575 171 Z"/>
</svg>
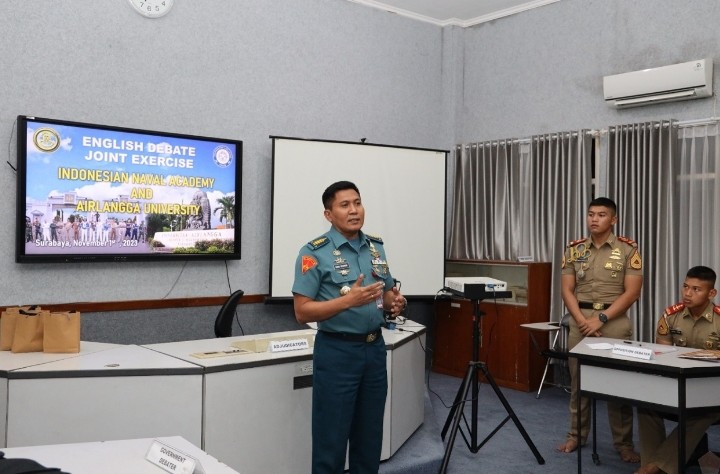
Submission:
<svg viewBox="0 0 720 474">
<path fill-rule="evenodd" d="M 334 227 L 304 245 L 295 262 L 292 292 L 315 301 L 328 301 L 351 288 L 360 274 L 363 286 L 383 281 L 384 291 L 395 284 L 385 257 L 382 239 L 362 231 L 358 240 L 348 241 Z M 345 290 L 343 290 L 345 288 Z M 329 332 L 367 334 L 385 322 L 383 310 L 375 302 L 349 308 L 320 321 L 318 329 Z"/>
</svg>

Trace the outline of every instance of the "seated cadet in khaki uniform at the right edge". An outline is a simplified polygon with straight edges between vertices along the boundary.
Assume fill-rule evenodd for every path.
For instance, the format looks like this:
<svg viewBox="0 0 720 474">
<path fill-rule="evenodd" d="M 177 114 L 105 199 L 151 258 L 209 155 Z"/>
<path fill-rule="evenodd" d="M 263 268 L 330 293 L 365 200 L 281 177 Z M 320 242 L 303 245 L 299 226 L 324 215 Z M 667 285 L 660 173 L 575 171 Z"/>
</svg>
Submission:
<svg viewBox="0 0 720 474">
<path fill-rule="evenodd" d="M 665 310 L 657 326 L 655 342 L 696 349 L 718 349 L 720 307 L 713 304 L 717 295 L 715 272 L 708 267 L 693 267 L 682 286 L 682 303 Z M 720 420 L 720 412 L 690 416 L 685 424 L 685 454 L 689 458 L 708 427 Z M 637 474 L 677 472 L 677 429 L 665 437 L 665 423 L 652 410 L 638 408 L 640 457 L 643 466 Z"/>
</svg>

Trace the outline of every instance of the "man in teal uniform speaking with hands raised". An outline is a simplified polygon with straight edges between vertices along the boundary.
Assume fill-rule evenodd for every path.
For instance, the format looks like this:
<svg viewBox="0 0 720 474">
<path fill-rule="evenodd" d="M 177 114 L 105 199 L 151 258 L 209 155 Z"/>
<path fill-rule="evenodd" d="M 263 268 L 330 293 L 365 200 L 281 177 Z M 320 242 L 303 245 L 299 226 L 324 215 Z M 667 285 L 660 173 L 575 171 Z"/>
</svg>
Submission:
<svg viewBox="0 0 720 474">
<path fill-rule="evenodd" d="M 317 322 L 313 350 L 312 472 L 376 474 L 387 396 L 384 311 L 407 300 L 395 288 L 382 239 L 362 232 L 365 209 L 349 181 L 322 195 L 332 227 L 300 249 L 293 300 L 300 323 Z"/>
</svg>

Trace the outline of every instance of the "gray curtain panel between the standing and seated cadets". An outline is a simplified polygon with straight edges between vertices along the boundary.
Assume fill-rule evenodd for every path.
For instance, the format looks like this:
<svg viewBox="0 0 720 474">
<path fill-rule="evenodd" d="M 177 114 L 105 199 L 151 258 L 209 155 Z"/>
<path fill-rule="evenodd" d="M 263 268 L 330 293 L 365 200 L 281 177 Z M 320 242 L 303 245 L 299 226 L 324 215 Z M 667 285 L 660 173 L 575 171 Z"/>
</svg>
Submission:
<svg viewBox="0 0 720 474">
<path fill-rule="evenodd" d="M 677 190 L 679 155 L 676 122 L 645 122 L 608 128 L 608 196 L 618 206 L 615 232 L 638 242 L 644 281 L 629 315 L 639 340 L 654 339 L 657 318 L 677 291 Z"/>
</svg>

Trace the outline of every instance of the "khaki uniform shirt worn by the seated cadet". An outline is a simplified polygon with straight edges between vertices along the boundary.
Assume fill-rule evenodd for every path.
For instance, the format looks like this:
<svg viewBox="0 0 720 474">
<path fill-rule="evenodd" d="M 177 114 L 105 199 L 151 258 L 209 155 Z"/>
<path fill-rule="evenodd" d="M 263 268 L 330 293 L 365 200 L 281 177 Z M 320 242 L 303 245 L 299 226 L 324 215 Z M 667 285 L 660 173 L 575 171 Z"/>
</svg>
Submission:
<svg viewBox="0 0 720 474">
<path fill-rule="evenodd" d="M 674 346 L 696 349 L 720 349 L 720 306 L 709 303 L 702 315 L 694 319 L 684 304 L 665 309 L 658 321 L 655 340 Z"/>
</svg>

